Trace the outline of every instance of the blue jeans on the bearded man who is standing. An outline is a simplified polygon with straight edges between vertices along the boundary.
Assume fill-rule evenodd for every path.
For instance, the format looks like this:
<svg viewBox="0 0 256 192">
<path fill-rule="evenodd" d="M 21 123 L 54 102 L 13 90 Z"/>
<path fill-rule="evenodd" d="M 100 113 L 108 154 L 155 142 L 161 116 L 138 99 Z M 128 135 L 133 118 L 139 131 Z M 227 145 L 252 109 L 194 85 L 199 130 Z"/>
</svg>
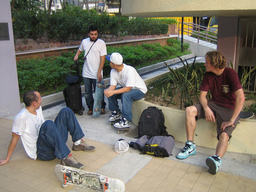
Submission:
<svg viewBox="0 0 256 192">
<path fill-rule="evenodd" d="M 85 88 L 85 101 L 86 101 L 86 105 L 89 109 L 93 108 L 93 96 L 92 96 L 92 85 L 94 88 L 94 91 L 96 89 L 96 84 L 97 84 L 97 79 L 90 79 L 87 77 L 83 77 L 84 80 L 84 88 Z M 101 108 L 105 109 L 106 108 L 106 102 L 104 101 L 104 92 L 102 94 L 102 102 L 101 102 Z"/>
</svg>

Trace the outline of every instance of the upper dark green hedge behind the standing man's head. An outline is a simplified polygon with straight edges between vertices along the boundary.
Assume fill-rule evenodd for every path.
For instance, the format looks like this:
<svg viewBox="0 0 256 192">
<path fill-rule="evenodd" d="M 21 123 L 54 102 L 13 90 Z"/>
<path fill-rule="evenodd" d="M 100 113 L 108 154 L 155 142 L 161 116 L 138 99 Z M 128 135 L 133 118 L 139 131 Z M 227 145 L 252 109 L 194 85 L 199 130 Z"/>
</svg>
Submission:
<svg viewBox="0 0 256 192">
<path fill-rule="evenodd" d="M 96 25 L 99 37 L 111 35 L 160 35 L 167 34 L 170 19 L 132 18 L 110 16 L 107 13 L 97 14 L 78 7 L 67 11 L 24 11 L 12 12 L 12 27 L 14 39 L 21 38 L 27 43 L 28 38 L 40 43 L 40 38 L 46 36 L 60 42 L 82 40 L 87 37 L 87 28 Z M 119 20 L 121 24 L 119 25 Z"/>
</svg>

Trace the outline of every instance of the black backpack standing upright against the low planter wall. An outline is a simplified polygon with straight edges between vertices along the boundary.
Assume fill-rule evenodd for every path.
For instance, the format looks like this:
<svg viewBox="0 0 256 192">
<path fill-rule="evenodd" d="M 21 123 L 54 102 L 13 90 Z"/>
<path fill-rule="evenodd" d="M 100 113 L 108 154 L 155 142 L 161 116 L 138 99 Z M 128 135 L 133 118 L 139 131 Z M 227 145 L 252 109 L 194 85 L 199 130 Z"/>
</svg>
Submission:
<svg viewBox="0 0 256 192">
<path fill-rule="evenodd" d="M 143 135 L 148 135 L 150 138 L 157 135 L 172 136 L 166 131 L 166 127 L 164 126 L 164 114 L 161 109 L 148 107 L 141 113 L 139 138 Z"/>
</svg>

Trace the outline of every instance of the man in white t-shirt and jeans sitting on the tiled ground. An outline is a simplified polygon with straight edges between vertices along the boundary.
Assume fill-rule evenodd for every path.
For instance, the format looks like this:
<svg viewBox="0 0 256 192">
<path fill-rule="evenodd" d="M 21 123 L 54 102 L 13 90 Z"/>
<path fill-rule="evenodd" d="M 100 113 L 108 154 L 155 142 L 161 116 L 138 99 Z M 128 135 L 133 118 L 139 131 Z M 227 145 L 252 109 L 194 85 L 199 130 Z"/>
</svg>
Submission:
<svg viewBox="0 0 256 192">
<path fill-rule="evenodd" d="M 62 165 L 83 169 L 84 165 L 77 162 L 72 156 L 66 142 L 68 133 L 72 137 L 73 151 L 95 151 L 95 147 L 82 140 L 84 133 L 70 108 L 60 110 L 55 121 L 44 121 L 41 107 L 41 95 L 37 91 L 28 91 L 23 96 L 26 105 L 21 109 L 13 121 L 12 140 L 7 156 L 0 160 L 0 165 L 6 164 L 21 138 L 28 156 L 43 161 L 50 161 L 56 157 Z"/>
</svg>

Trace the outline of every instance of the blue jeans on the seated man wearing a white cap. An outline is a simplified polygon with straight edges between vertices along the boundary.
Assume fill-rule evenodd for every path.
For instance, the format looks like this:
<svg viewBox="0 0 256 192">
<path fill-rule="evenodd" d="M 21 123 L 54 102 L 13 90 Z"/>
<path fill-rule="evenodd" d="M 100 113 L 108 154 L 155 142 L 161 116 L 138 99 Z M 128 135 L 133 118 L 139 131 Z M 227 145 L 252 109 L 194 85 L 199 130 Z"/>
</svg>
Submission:
<svg viewBox="0 0 256 192">
<path fill-rule="evenodd" d="M 122 87 L 118 87 L 116 90 L 121 88 Z M 144 96 L 145 94 L 139 89 L 131 89 L 129 92 L 114 94 L 111 97 L 108 97 L 108 108 L 110 111 L 122 113 L 125 119 L 132 121 L 132 101 L 140 100 Z M 122 112 L 118 106 L 118 99 L 121 99 L 122 102 Z"/>
</svg>

